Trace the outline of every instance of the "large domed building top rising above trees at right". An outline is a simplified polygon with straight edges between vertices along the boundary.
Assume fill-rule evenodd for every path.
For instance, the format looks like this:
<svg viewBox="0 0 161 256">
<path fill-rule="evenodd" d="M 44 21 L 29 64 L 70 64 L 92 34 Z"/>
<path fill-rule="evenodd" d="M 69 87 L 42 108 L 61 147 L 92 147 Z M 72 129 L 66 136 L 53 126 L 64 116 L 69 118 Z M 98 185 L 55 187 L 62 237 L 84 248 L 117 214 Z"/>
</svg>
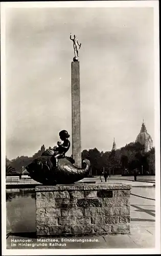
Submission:
<svg viewBox="0 0 161 256">
<path fill-rule="evenodd" d="M 145 127 L 145 123 L 143 120 L 142 128 L 140 133 L 137 135 L 135 142 L 140 142 L 145 146 L 145 152 L 148 152 L 153 147 L 153 141 L 150 134 L 147 133 L 147 129 Z"/>
</svg>

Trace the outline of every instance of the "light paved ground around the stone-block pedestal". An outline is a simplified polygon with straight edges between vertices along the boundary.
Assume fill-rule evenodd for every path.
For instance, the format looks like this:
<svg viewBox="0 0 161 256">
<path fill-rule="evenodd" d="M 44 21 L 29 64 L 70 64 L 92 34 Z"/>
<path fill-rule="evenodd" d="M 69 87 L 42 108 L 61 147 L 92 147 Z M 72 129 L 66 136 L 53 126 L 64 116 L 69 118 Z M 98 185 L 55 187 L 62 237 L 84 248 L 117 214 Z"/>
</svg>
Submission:
<svg viewBox="0 0 161 256">
<path fill-rule="evenodd" d="M 82 181 L 99 182 L 99 177 L 87 178 Z M 154 180 L 154 179 L 153 179 Z M 104 178 L 103 178 L 103 182 Z M 154 248 L 155 247 L 155 186 L 151 182 L 118 180 L 117 177 L 108 180 L 109 183 L 131 184 L 131 234 L 119 236 L 99 236 L 98 242 L 67 242 L 66 246 L 45 247 L 50 249 L 89 249 L 89 248 Z M 35 233 L 9 233 L 7 237 L 7 248 L 11 247 L 11 239 L 32 239 L 32 243 L 37 243 Z M 96 238 L 96 237 L 95 237 Z M 61 238 L 58 238 L 61 243 Z M 70 239 L 70 238 L 68 238 Z M 73 238 L 71 238 L 73 239 Z M 82 237 L 81 239 L 92 239 Z M 16 247 L 15 249 L 23 249 Z M 36 247 L 37 249 L 40 247 Z M 29 249 L 29 248 L 28 248 Z M 34 249 L 31 247 L 31 249 Z"/>
</svg>

